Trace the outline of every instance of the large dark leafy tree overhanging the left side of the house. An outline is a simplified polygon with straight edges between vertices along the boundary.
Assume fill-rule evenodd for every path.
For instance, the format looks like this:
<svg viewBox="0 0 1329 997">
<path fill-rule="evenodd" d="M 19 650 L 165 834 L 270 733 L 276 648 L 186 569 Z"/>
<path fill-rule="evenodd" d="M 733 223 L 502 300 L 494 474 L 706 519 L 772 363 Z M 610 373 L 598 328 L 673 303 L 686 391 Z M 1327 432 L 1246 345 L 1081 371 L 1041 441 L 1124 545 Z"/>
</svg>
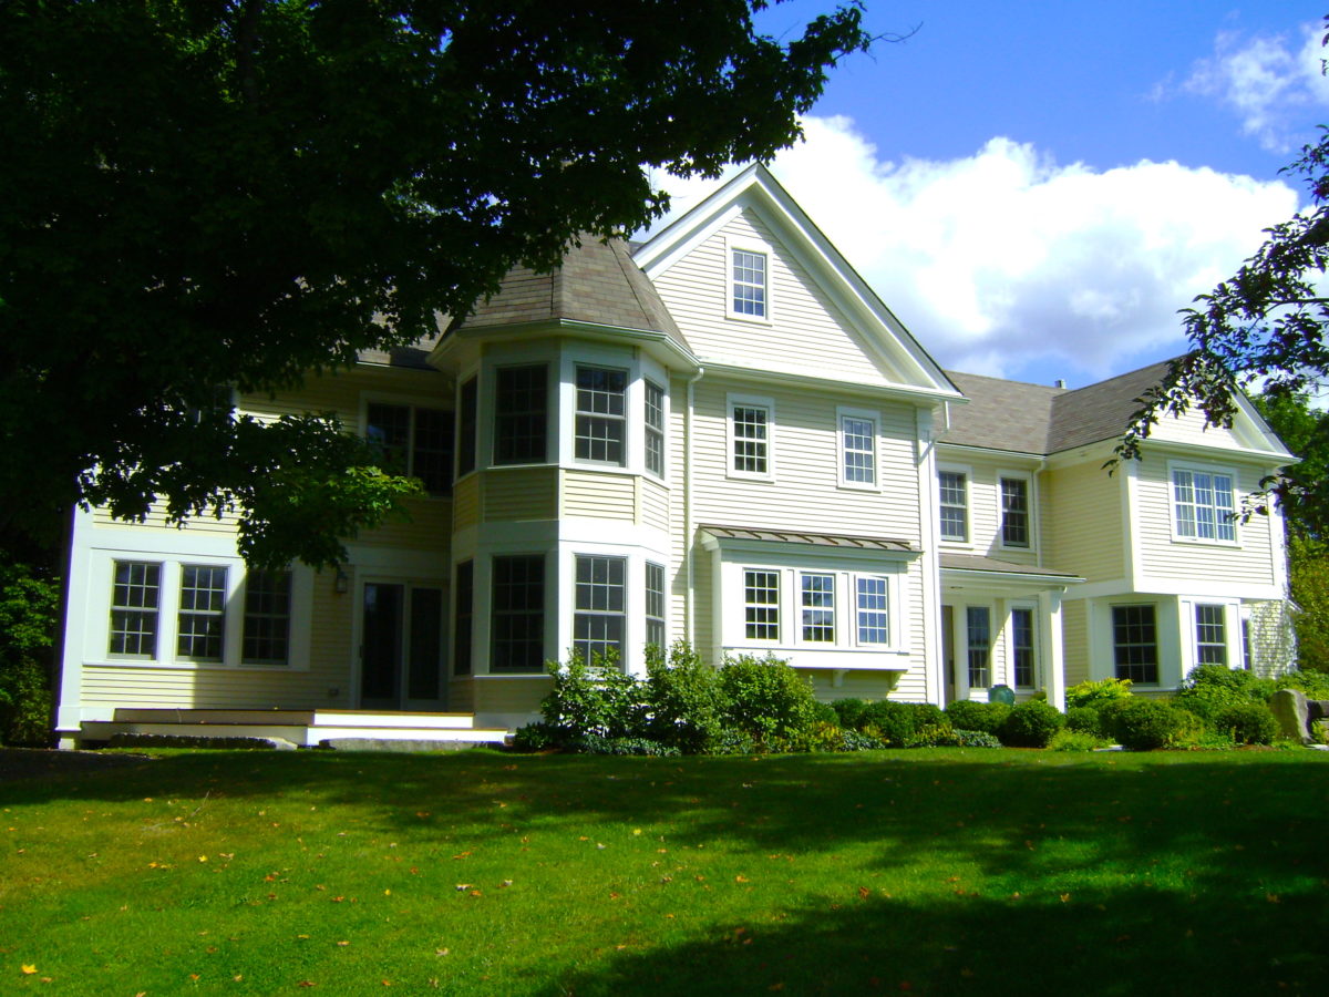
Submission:
<svg viewBox="0 0 1329 997">
<path fill-rule="evenodd" d="M 288 388 L 633 230 L 646 167 L 799 134 L 868 39 L 766 0 L 9 0 L 0 7 L 0 544 L 74 502 L 242 509 L 259 562 L 343 556 L 408 488 Z"/>
</svg>

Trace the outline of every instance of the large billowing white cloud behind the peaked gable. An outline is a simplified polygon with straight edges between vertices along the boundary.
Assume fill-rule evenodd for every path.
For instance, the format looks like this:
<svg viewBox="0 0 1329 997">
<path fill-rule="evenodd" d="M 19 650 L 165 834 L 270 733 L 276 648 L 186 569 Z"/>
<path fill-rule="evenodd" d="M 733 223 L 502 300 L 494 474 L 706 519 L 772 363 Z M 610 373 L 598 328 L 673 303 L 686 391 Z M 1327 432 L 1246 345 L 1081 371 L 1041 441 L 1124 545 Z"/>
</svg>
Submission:
<svg viewBox="0 0 1329 997">
<path fill-rule="evenodd" d="M 848 118 L 804 128 L 776 177 L 933 356 L 975 374 L 1074 384 L 1180 352 L 1177 308 L 1297 209 L 1285 183 L 1175 162 L 1094 171 L 1007 138 L 888 162 Z"/>
</svg>

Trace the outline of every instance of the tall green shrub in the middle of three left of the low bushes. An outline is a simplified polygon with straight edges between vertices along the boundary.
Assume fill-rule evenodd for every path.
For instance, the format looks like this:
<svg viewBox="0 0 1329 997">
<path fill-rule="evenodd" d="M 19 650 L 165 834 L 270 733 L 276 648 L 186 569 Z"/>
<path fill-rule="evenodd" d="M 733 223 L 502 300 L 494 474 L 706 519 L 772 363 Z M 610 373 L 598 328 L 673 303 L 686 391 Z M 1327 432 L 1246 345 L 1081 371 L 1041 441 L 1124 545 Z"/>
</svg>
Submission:
<svg viewBox="0 0 1329 997">
<path fill-rule="evenodd" d="M 726 697 L 719 673 L 683 641 L 646 653 L 646 734 L 684 754 L 716 750 L 724 731 Z"/>
</svg>

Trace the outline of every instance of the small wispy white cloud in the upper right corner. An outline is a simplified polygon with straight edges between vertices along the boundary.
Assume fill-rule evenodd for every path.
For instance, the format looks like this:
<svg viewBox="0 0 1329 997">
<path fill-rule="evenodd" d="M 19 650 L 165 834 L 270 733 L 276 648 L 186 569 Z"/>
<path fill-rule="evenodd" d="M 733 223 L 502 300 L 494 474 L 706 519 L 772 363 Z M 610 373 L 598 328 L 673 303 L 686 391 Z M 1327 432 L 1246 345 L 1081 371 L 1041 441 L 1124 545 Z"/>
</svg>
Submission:
<svg viewBox="0 0 1329 997">
<path fill-rule="evenodd" d="M 1306 113 L 1329 106 L 1321 36 L 1318 24 L 1304 24 L 1294 35 L 1220 32 L 1213 55 L 1197 61 L 1181 86 L 1217 98 L 1261 146 L 1288 153 L 1310 141 Z"/>
</svg>

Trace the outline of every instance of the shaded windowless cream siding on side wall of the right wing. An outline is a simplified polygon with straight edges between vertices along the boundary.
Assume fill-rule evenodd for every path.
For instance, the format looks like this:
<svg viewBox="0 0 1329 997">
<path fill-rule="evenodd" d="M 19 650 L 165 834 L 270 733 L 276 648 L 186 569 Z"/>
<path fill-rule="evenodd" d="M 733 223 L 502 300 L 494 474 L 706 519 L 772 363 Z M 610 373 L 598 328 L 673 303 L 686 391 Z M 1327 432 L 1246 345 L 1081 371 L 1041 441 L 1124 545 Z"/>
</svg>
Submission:
<svg viewBox="0 0 1329 997">
<path fill-rule="evenodd" d="M 1124 475 L 1108 476 L 1098 461 L 1049 471 L 1043 476 L 1043 566 L 1082 578 L 1124 578 Z"/>
</svg>

